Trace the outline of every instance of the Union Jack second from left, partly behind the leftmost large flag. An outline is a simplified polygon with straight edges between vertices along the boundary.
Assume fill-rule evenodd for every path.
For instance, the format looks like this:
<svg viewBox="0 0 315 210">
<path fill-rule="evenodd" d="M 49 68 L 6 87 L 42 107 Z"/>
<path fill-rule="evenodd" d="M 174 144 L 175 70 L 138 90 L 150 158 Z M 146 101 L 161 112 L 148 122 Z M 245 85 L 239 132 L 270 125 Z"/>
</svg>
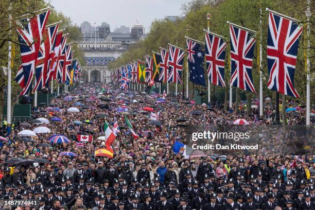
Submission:
<svg viewBox="0 0 315 210">
<path fill-rule="evenodd" d="M 33 91 L 42 90 L 46 84 L 49 84 L 49 64 L 51 60 L 51 51 L 57 36 L 58 26 L 51 26 L 44 30 L 44 42 L 40 46 L 38 58 L 36 62 L 36 77 Z"/>
</svg>

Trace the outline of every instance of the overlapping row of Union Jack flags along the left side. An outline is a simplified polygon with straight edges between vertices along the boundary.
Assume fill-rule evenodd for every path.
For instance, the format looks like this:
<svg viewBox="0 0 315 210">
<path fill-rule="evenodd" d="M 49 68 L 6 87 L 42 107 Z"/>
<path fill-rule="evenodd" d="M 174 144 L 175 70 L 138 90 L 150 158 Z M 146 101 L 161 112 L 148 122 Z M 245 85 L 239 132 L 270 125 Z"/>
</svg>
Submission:
<svg viewBox="0 0 315 210">
<path fill-rule="evenodd" d="M 49 14 L 48 9 L 30 19 L 16 21 L 19 42 L 22 43 L 22 64 L 15 77 L 22 88 L 20 95 L 40 91 L 53 80 L 73 84 L 82 76 L 81 65 L 77 58 L 73 58 L 72 45 L 66 43 L 67 34 L 58 31 L 60 22 L 47 25 Z"/>
</svg>

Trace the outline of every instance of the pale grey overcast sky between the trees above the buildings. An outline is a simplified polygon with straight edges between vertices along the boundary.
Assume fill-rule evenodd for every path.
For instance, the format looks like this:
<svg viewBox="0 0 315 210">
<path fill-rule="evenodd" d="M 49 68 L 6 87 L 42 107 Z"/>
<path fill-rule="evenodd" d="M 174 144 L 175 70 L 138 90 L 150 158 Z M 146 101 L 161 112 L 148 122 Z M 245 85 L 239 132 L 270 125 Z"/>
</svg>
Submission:
<svg viewBox="0 0 315 210">
<path fill-rule="evenodd" d="M 92 25 L 107 22 L 111 31 L 120 25 L 132 27 L 139 24 L 146 32 L 154 19 L 180 16 L 182 4 L 190 0 L 50 0 L 50 3 L 78 26 L 83 21 Z"/>
</svg>

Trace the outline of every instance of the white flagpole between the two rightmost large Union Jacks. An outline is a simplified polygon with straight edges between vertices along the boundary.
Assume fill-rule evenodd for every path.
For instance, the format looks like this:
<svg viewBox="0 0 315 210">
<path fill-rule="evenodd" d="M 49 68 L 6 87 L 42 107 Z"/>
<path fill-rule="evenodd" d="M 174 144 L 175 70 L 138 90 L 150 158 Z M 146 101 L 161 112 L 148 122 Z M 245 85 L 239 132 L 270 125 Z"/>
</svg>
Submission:
<svg viewBox="0 0 315 210">
<path fill-rule="evenodd" d="M 261 14 L 261 6 L 259 8 L 259 13 Z M 263 117 L 264 115 L 264 99 L 263 99 L 263 71 L 261 71 L 261 61 L 263 60 L 263 45 L 261 45 L 262 38 L 261 31 L 261 15 L 259 15 L 259 56 L 258 58 L 258 69 L 259 69 L 259 116 Z"/>
</svg>

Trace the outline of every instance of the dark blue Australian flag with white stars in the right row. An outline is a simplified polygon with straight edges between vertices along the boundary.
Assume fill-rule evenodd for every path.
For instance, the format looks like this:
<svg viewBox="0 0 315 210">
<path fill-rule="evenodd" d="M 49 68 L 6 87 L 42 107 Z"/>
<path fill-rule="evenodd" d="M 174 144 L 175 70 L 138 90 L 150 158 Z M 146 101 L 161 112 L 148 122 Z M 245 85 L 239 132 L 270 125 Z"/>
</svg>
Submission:
<svg viewBox="0 0 315 210">
<path fill-rule="evenodd" d="M 204 51 L 197 42 L 187 39 L 187 59 L 189 66 L 189 81 L 205 86 Z"/>
</svg>

